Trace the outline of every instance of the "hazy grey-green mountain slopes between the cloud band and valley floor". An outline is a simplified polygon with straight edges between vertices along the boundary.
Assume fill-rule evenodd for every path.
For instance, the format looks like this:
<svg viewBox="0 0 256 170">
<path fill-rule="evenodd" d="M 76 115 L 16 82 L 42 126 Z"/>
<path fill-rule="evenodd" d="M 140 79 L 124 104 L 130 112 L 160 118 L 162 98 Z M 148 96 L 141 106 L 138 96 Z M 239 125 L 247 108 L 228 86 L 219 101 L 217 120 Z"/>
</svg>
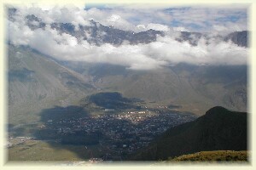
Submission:
<svg viewBox="0 0 256 170">
<path fill-rule="evenodd" d="M 158 71 L 130 71 L 108 64 L 68 65 L 31 48 L 9 45 L 9 124 L 37 122 L 44 108 L 79 106 L 85 96 L 99 92 L 119 92 L 148 106 L 178 105 L 177 111 L 196 115 L 215 105 L 247 110 L 245 65 L 179 64 Z"/>
</svg>

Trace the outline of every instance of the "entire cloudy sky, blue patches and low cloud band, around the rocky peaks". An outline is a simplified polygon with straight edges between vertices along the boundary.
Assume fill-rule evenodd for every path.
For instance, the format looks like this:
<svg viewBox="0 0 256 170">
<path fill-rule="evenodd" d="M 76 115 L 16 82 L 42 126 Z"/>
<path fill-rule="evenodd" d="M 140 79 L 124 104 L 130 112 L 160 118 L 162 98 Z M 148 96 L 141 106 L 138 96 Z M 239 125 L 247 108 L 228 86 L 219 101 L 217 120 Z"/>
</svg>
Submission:
<svg viewBox="0 0 256 170">
<path fill-rule="evenodd" d="M 181 62 L 193 65 L 245 65 L 247 48 L 232 42 L 219 41 L 216 35 L 247 30 L 247 7 L 169 7 L 147 5 L 95 5 L 31 7 L 19 6 L 15 20 L 7 20 L 9 41 L 15 45 L 27 45 L 55 59 L 90 63 L 124 65 L 132 70 L 154 70 Z M 26 26 L 26 15 L 34 14 L 46 28 L 31 30 Z M 156 42 L 131 45 L 124 42 L 96 46 L 86 40 L 52 29 L 51 23 L 72 23 L 76 28 L 90 26 L 95 20 L 104 26 L 125 31 L 164 31 L 165 37 Z M 37 22 L 33 23 L 38 25 Z M 201 37 L 197 46 L 189 42 L 177 42 L 179 31 L 203 32 L 212 35 L 210 41 Z M 218 49 L 218 50 L 217 50 Z"/>
</svg>

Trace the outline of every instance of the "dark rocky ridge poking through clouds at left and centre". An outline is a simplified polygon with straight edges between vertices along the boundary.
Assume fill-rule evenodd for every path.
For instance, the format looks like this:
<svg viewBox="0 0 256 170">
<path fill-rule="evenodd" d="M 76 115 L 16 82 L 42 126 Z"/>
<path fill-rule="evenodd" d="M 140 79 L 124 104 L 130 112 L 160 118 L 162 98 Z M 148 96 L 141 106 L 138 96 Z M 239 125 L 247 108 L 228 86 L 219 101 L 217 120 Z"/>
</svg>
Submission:
<svg viewBox="0 0 256 170">
<path fill-rule="evenodd" d="M 34 25 L 34 21 L 38 22 L 38 25 Z M 86 40 L 91 44 L 101 45 L 103 43 L 110 43 L 113 45 L 120 45 L 123 42 L 130 42 L 131 44 L 137 43 L 149 43 L 156 41 L 157 36 L 164 36 L 162 31 L 154 31 L 152 29 L 148 31 L 134 32 L 123 31 L 113 26 L 102 26 L 102 24 L 90 20 L 90 26 L 81 26 L 79 29 L 75 29 L 75 26 L 71 23 L 52 23 L 50 27 L 62 33 L 67 33 L 76 37 L 79 41 Z M 46 24 L 34 14 L 26 16 L 26 24 L 30 29 L 35 30 L 38 28 L 44 29 Z"/>
</svg>

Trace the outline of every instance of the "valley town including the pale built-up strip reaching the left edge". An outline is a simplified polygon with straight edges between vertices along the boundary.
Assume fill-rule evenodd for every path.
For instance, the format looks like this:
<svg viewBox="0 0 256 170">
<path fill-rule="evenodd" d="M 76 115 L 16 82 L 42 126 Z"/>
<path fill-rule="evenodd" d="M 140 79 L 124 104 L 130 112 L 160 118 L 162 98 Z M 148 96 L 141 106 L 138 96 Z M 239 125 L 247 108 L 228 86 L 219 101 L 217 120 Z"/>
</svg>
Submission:
<svg viewBox="0 0 256 170">
<path fill-rule="evenodd" d="M 140 110 L 102 108 L 97 115 L 49 116 L 32 136 L 9 136 L 8 147 L 27 140 L 43 140 L 82 147 L 88 150 L 84 159 L 89 161 L 122 161 L 147 147 L 168 128 L 196 119 L 194 114 L 176 109 L 173 106 L 142 106 Z"/>
</svg>

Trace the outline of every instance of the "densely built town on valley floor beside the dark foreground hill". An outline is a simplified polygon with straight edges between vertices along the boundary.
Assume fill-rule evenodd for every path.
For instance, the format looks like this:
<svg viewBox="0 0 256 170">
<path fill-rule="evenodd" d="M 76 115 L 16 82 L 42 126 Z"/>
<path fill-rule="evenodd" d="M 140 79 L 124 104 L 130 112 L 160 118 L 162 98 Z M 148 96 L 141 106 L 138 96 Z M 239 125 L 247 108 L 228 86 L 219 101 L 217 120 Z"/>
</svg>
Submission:
<svg viewBox="0 0 256 170">
<path fill-rule="evenodd" d="M 122 160 L 134 151 L 146 147 L 169 127 L 195 118 L 194 115 L 163 109 L 125 111 L 119 114 L 113 110 L 105 110 L 105 114 L 99 116 L 59 122 L 48 120 L 45 126 L 55 128 L 55 133 L 61 136 L 59 141 L 62 144 L 84 144 L 86 148 L 90 144 L 97 144 L 98 150 L 102 152 L 100 159 L 108 161 Z"/>
</svg>

